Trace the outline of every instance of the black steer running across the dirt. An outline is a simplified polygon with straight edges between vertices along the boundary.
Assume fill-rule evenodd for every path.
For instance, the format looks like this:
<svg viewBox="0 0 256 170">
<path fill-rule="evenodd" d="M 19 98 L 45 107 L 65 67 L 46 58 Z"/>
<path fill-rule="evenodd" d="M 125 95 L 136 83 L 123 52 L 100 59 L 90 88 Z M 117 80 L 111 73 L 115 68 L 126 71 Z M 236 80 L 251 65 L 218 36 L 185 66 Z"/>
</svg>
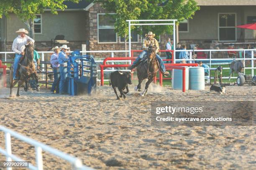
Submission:
<svg viewBox="0 0 256 170">
<path fill-rule="evenodd" d="M 117 100 L 120 100 L 118 97 L 118 94 L 116 92 L 115 87 L 118 87 L 118 90 L 120 91 L 120 97 L 123 97 L 125 99 L 125 94 L 129 92 L 128 85 L 131 85 L 131 72 L 122 72 L 122 71 L 114 71 L 110 73 L 110 81 L 109 85 L 112 85 L 115 95 L 117 97 Z M 126 92 L 123 92 L 125 90 Z"/>
</svg>

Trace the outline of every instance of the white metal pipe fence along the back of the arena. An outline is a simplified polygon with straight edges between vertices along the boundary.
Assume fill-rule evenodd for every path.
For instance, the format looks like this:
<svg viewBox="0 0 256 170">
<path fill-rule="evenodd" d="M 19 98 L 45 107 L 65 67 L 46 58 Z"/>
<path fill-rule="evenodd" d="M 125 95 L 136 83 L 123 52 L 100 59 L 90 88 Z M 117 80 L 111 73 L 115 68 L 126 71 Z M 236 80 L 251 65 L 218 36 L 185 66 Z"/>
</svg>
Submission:
<svg viewBox="0 0 256 170">
<path fill-rule="evenodd" d="M 174 52 L 182 52 L 182 51 L 187 51 L 189 52 L 189 59 L 186 59 L 186 61 L 188 61 L 189 63 L 192 63 L 194 61 L 194 59 L 192 59 L 192 55 L 193 55 L 193 51 L 195 52 L 209 52 L 209 58 L 207 59 L 195 59 L 195 61 L 209 61 L 210 62 L 210 69 L 209 70 L 215 70 L 216 68 L 212 68 L 212 65 L 214 65 L 212 62 L 216 61 L 216 60 L 251 60 L 251 67 L 245 67 L 244 70 L 246 69 L 251 69 L 251 75 L 254 75 L 254 70 L 256 69 L 256 67 L 254 67 L 254 60 L 256 60 L 256 58 L 254 58 L 254 54 L 256 53 L 256 49 L 223 49 L 223 50 L 174 50 Z M 212 58 L 212 52 L 228 52 L 228 51 L 241 51 L 243 52 L 243 58 Z M 251 51 L 251 58 L 246 58 L 246 51 Z M 70 51 L 72 52 L 72 51 Z M 115 57 L 114 53 L 117 52 L 129 52 L 129 50 L 102 50 L 102 51 L 80 51 L 81 53 L 110 53 L 111 57 Z M 41 54 L 41 61 L 44 61 L 44 54 L 47 53 L 53 53 L 52 51 L 41 51 L 38 53 Z M 5 54 L 5 61 L 7 61 L 7 54 L 15 54 L 14 52 L 0 52 L 0 54 Z M 226 54 L 228 55 L 228 54 Z M 174 63 L 176 62 L 180 62 L 182 60 L 180 59 L 176 59 L 174 57 Z M 103 62 L 103 60 L 95 60 L 95 62 L 99 63 L 99 62 Z M 114 64 L 114 62 L 130 62 L 130 60 L 115 60 L 115 61 L 107 61 L 107 62 L 112 62 L 112 64 Z M 221 65 L 221 64 L 220 64 Z M 229 67 L 223 67 L 223 70 L 229 69 Z M 100 71 L 100 70 L 97 70 Z M 110 71 L 115 71 L 114 68 L 112 68 L 111 70 L 104 70 L 104 72 L 110 72 Z M 130 70 L 126 70 L 126 71 L 130 71 Z M 210 76 L 206 76 L 207 79 L 210 79 Z M 213 78 L 213 77 L 212 77 Z M 228 77 L 223 77 L 223 79 L 227 79 Z M 236 77 L 231 77 L 231 78 L 236 78 Z"/>
</svg>

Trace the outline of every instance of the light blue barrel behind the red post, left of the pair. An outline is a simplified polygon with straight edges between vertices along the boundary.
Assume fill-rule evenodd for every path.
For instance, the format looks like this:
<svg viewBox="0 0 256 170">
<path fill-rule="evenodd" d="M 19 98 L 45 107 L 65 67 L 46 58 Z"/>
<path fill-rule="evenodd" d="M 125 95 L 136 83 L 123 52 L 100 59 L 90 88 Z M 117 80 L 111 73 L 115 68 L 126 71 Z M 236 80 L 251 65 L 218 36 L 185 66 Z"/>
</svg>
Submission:
<svg viewBox="0 0 256 170">
<path fill-rule="evenodd" d="M 189 69 L 186 67 L 186 90 L 189 89 Z M 182 90 L 182 70 L 173 69 L 172 71 L 172 88 Z"/>
</svg>

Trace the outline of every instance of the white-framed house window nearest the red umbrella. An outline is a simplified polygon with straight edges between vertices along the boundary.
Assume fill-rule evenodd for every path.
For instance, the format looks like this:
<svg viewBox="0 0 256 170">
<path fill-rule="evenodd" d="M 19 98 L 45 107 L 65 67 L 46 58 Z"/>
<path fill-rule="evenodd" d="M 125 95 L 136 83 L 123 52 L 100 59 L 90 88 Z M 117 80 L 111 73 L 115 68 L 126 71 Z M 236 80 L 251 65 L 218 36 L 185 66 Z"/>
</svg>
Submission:
<svg viewBox="0 0 256 170">
<path fill-rule="evenodd" d="M 219 14 L 219 41 L 236 41 L 236 14 Z"/>
</svg>

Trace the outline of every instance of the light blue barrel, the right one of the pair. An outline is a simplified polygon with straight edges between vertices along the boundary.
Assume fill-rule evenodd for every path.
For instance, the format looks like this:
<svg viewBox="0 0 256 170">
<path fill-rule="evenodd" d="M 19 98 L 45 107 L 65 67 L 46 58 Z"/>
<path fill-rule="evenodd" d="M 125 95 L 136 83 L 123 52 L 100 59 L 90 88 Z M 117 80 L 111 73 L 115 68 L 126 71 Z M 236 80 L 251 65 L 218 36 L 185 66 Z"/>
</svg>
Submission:
<svg viewBox="0 0 256 170">
<path fill-rule="evenodd" d="M 189 89 L 205 90 L 204 67 L 189 67 Z"/>
</svg>

